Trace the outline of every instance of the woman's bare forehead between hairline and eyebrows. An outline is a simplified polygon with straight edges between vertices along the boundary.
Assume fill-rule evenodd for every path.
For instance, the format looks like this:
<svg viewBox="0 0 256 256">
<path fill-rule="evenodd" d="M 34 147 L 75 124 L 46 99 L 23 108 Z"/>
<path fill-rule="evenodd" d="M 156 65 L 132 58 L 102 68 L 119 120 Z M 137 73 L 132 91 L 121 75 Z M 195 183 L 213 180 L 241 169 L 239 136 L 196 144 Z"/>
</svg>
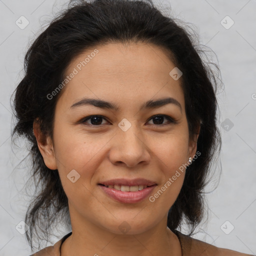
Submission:
<svg viewBox="0 0 256 256">
<path fill-rule="evenodd" d="M 70 106 L 90 96 L 130 104 L 171 96 L 183 104 L 181 79 L 169 75 L 174 67 L 167 51 L 153 44 L 108 43 L 86 49 L 68 65 L 69 79 L 59 101 Z"/>
</svg>

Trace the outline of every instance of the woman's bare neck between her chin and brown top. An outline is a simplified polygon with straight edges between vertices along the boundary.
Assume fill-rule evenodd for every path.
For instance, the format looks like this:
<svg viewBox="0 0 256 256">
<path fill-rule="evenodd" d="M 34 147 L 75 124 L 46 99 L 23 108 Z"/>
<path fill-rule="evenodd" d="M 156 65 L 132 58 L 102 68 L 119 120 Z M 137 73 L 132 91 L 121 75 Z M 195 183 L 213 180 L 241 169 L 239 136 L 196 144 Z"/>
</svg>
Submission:
<svg viewBox="0 0 256 256">
<path fill-rule="evenodd" d="M 61 256 L 181 256 L 179 240 L 166 227 L 165 218 L 143 232 L 116 234 L 84 221 L 78 214 L 72 216 L 72 234 L 63 242 Z"/>
</svg>

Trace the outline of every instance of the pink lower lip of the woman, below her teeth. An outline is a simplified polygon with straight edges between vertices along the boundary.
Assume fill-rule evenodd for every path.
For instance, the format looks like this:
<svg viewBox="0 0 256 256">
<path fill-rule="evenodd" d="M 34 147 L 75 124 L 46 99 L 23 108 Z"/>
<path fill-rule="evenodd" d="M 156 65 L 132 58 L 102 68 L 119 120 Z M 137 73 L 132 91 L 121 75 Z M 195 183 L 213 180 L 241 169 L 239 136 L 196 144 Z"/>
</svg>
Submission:
<svg viewBox="0 0 256 256">
<path fill-rule="evenodd" d="M 134 203 L 139 202 L 145 199 L 150 192 L 154 189 L 156 185 L 148 186 L 146 188 L 143 188 L 142 190 L 138 190 L 135 192 L 127 192 L 127 191 L 121 191 L 116 190 L 114 188 L 106 187 L 104 185 L 99 185 L 101 189 L 111 198 L 124 203 Z"/>
</svg>

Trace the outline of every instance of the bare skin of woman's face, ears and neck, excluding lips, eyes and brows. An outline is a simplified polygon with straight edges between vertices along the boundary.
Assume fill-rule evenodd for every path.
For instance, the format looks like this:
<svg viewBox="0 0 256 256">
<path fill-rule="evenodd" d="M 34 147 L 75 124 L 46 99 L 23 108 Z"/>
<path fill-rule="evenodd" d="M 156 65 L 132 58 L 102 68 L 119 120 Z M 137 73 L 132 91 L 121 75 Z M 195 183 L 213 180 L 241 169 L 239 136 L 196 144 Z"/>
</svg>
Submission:
<svg viewBox="0 0 256 256">
<path fill-rule="evenodd" d="M 54 117 L 53 138 L 43 135 L 34 122 L 34 134 L 44 162 L 58 169 L 68 198 L 72 234 L 61 247 L 67 255 L 181 255 L 176 235 L 166 227 L 167 213 L 181 189 L 185 171 L 158 197 L 138 203 L 120 203 L 97 185 L 112 178 L 143 177 L 157 183 L 153 195 L 189 156 L 196 152 L 197 135 L 189 137 L 180 79 L 169 75 L 175 65 L 166 52 L 152 44 L 108 43 L 68 82 L 60 95 Z M 74 58 L 66 74 L 94 48 Z M 70 107 L 83 97 L 103 99 L 119 110 L 92 105 Z M 172 97 L 155 109 L 139 110 L 151 99 Z M 153 115 L 164 114 L 158 124 Z M 98 126 L 93 120 L 101 115 Z M 126 118 L 131 127 L 118 123 Z M 72 183 L 67 174 L 80 178 Z M 130 227 L 123 233 L 123 221 Z"/>
</svg>

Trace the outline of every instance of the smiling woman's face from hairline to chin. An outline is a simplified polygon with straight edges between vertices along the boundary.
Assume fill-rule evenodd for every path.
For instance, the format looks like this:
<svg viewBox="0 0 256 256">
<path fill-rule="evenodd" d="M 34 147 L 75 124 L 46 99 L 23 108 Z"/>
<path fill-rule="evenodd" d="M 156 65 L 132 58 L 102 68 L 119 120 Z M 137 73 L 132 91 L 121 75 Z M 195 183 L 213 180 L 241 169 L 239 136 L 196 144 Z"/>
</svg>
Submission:
<svg viewBox="0 0 256 256">
<path fill-rule="evenodd" d="M 181 78 L 175 69 L 169 74 L 174 67 L 162 49 L 144 43 L 109 43 L 71 61 L 53 141 L 47 153 L 41 149 L 45 164 L 58 169 L 71 221 L 113 233 L 166 226 L 184 179 L 180 166 L 196 151 Z M 152 186 L 136 191 L 145 183 Z"/>
</svg>

